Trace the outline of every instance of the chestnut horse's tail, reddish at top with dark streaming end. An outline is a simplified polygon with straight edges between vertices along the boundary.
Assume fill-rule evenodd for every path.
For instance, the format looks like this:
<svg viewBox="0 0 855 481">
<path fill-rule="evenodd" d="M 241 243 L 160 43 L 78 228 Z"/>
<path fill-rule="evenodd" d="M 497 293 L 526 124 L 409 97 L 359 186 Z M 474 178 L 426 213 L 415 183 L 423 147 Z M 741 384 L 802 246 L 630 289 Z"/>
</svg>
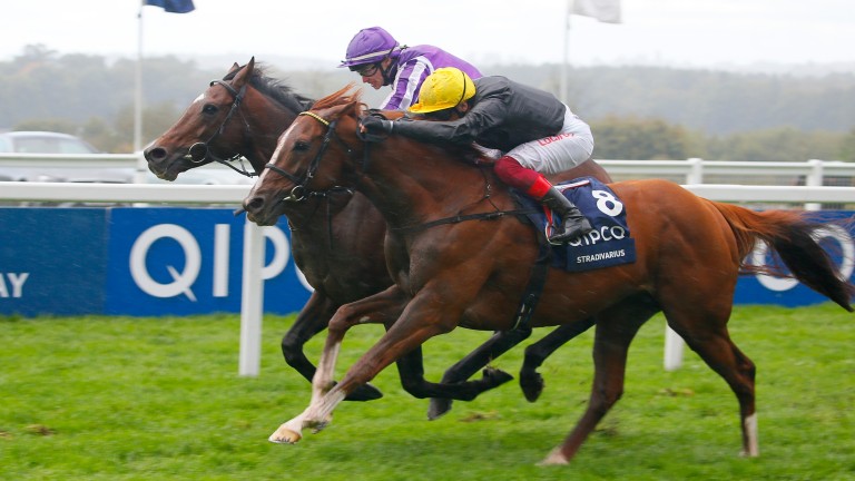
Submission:
<svg viewBox="0 0 855 481">
<path fill-rule="evenodd" d="M 757 240 L 764 240 L 777 253 L 793 277 L 853 312 L 849 303 L 855 295 L 855 286 L 841 278 L 828 253 L 812 236 L 815 230 L 825 227 L 823 224 L 809 220 L 806 213 L 798 210 L 755 212 L 731 204 L 712 202 L 712 205 L 730 225 L 740 258 L 746 258 Z M 743 267 L 780 274 L 769 266 Z"/>
</svg>

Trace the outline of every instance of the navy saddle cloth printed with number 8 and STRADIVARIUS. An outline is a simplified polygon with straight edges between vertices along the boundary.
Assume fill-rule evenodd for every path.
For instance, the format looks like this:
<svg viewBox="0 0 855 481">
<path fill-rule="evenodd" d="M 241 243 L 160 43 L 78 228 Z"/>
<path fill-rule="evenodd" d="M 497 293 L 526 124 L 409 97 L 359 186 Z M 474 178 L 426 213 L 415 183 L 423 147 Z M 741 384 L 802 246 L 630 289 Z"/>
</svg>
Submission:
<svg viewBox="0 0 855 481">
<path fill-rule="evenodd" d="M 630 237 L 627 210 L 606 184 L 582 177 L 556 188 L 579 207 L 593 230 L 566 245 L 552 246 L 553 267 L 581 272 L 636 262 L 636 240 Z M 549 237 L 552 213 L 528 196 L 518 197 L 523 207 L 534 212 L 528 215 L 529 220 Z M 554 220 L 560 225 L 560 219 Z"/>
</svg>

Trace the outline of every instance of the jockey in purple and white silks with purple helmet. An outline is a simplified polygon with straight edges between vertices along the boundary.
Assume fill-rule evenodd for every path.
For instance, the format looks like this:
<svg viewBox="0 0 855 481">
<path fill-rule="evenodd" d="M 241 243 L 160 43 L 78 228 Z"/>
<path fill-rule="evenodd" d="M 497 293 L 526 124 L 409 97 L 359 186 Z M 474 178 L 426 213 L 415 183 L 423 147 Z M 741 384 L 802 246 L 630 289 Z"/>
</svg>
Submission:
<svg viewBox="0 0 855 481">
<path fill-rule="evenodd" d="M 456 67 L 471 78 L 481 78 L 481 72 L 469 62 L 432 46 L 401 46 L 380 27 L 360 30 L 338 67 L 355 71 L 374 90 L 392 86 L 392 94 L 380 105 L 384 110 L 405 110 L 417 101 L 419 88 L 438 68 Z"/>
</svg>

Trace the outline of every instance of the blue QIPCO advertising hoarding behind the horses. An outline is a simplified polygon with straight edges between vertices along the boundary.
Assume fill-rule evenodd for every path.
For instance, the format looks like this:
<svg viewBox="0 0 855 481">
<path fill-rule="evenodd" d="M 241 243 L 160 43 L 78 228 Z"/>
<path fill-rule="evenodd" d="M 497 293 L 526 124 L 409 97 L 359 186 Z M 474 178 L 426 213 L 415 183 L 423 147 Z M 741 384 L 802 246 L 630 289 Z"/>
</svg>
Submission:
<svg viewBox="0 0 855 481">
<path fill-rule="evenodd" d="M 0 314 L 238 313 L 245 225 L 228 208 L 0 208 Z M 846 232 L 817 236 L 852 278 L 855 246 Z M 299 311 L 311 288 L 291 257 L 285 219 L 265 237 L 264 311 Z M 763 246 L 753 254 L 755 262 L 765 256 Z M 825 301 L 793 279 L 763 275 L 743 276 L 735 296 L 737 304 Z"/>
</svg>

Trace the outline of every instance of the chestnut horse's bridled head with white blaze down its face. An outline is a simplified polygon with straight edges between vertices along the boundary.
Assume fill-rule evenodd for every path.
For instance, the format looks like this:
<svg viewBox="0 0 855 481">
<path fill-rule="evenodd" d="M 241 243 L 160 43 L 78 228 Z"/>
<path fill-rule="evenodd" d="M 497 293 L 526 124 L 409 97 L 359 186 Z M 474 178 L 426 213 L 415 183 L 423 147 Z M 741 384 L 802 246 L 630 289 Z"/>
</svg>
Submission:
<svg viewBox="0 0 855 481">
<path fill-rule="evenodd" d="M 244 199 L 250 220 L 273 225 L 291 203 L 355 185 L 353 160 L 363 150 L 356 125 L 365 106 L 358 92 L 350 94 L 352 89 L 348 85 L 318 100 L 282 134 L 269 164 Z"/>
</svg>

